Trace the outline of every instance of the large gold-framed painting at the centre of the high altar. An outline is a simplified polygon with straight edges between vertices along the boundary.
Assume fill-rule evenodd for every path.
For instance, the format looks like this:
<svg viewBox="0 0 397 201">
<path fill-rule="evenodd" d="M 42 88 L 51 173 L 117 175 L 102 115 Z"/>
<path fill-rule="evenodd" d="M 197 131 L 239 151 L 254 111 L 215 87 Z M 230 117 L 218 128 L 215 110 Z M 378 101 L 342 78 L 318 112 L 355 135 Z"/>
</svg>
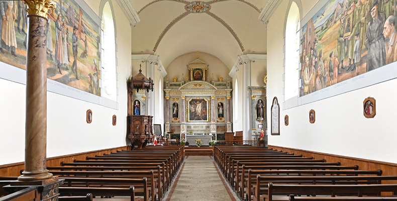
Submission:
<svg viewBox="0 0 397 201">
<path fill-rule="evenodd" d="M 208 122 L 208 106 L 206 98 L 190 99 L 188 102 L 188 121 Z"/>
</svg>

